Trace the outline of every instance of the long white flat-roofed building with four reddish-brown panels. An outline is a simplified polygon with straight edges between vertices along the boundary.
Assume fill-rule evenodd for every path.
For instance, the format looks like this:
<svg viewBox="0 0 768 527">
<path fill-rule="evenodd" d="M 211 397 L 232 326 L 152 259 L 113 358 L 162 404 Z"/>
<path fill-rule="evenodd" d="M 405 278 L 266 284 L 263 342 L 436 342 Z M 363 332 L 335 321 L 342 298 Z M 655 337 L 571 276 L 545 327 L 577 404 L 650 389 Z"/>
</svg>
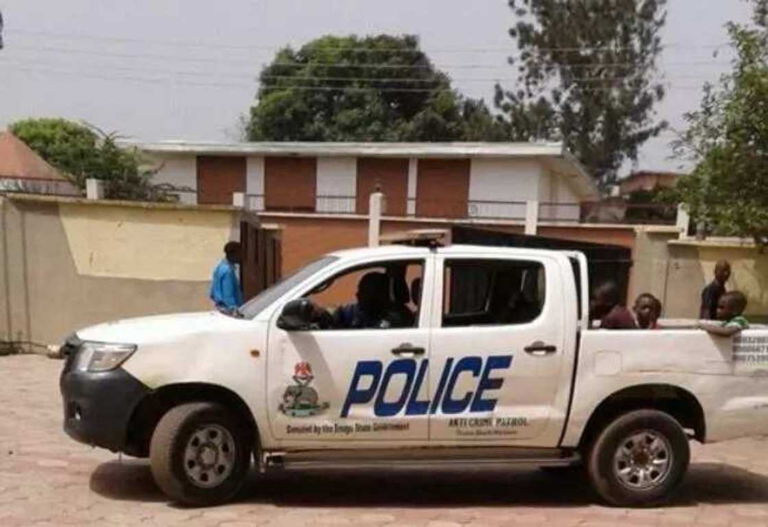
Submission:
<svg viewBox="0 0 768 527">
<path fill-rule="evenodd" d="M 385 215 L 419 218 L 577 220 L 597 188 L 561 144 L 542 143 L 131 143 L 160 170 L 156 182 L 187 204 L 249 210 L 367 214 L 369 194 Z"/>
</svg>

